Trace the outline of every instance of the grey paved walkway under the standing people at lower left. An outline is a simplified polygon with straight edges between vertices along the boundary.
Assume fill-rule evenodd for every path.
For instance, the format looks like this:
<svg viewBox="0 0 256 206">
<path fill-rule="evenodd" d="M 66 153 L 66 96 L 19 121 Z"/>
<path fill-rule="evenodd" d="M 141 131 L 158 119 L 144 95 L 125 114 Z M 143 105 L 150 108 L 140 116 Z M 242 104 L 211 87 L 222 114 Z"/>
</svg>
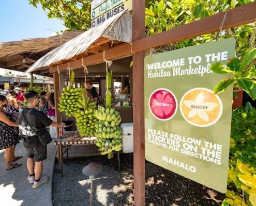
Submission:
<svg viewBox="0 0 256 206">
<path fill-rule="evenodd" d="M 18 168 L 6 170 L 4 159 L 5 150 L 0 150 L 0 200 L 1 206 L 51 206 L 52 205 L 52 176 L 57 147 L 48 145 L 48 158 L 43 161 L 42 175 L 48 175 L 49 180 L 40 187 L 33 189 L 27 181 L 26 150 L 23 141 L 16 146 L 16 156 L 23 158 L 13 163 L 22 163 Z"/>
</svg>

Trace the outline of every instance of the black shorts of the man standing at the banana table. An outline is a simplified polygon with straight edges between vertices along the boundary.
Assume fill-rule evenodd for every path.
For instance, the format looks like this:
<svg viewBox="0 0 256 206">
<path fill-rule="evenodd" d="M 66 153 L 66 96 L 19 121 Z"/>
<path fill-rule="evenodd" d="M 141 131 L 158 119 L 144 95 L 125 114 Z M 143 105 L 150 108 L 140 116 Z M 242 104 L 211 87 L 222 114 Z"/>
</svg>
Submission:
<svg viewBox="0 0 256 206">
<path fill-rule="evenodd" d="M 34 158 L 35 162 L 41 162 L 47 159 L 47 146 L 40 145 L 36 148 L 26 148 L 27 158 Z"/>
</svg>

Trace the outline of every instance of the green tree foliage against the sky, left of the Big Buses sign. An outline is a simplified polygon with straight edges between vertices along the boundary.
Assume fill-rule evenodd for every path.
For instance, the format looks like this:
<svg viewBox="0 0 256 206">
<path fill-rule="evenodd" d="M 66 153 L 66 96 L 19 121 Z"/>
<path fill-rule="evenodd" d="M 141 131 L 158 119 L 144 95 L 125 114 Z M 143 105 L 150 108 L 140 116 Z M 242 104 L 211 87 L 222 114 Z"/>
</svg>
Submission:
<svg viewBox="0 0 256 206">
<path fill-rule="evenodd" d="M 28 0 L 37 8 L 47 9 L 49 19 L 57 18 L 64 22 L 67 30 L 87 30 L 91 27 L 91 1 L 87 0 Z"/>
</svg>

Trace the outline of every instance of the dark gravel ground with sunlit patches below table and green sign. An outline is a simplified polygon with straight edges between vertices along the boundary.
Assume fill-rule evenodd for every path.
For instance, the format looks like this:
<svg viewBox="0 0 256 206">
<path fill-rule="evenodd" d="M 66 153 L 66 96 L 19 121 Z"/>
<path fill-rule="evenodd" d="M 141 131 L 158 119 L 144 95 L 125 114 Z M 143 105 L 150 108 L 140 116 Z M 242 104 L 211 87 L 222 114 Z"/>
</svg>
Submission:
<svg viewBox="0 0 256 206">
<path fill-rule="evenodd" d="M 111 160 L 107 156 L 69 159 L 69 165 L 63 165 L 63 178 L 58 163 L 55 163 L 53 205 L 90 205 L 91 180 L 82 174 L 82 169 L 91 162 L 102 165 L 101 173 L 93 181 L 93 205 L 133 205 L 132 155 L 133 153 L 120 155 L 121 170 L 118 170 L 116 156 Z M 221 205 L 224 198 L 222 193 L 145 162 L 145 205 Z"/>
</svg>

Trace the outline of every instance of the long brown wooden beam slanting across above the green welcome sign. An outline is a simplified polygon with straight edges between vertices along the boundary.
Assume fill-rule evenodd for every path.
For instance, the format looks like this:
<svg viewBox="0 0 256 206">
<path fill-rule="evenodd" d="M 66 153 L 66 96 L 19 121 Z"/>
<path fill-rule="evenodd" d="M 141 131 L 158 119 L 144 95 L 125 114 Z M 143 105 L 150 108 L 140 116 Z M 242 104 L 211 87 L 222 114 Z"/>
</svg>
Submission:
<svg viewBox="0 0 256 206">
<path fill-rule="evenodd" d="M 227 17 L 224 21 L 222 29 L 228 29 L 255 22 L 255 10 L 256 2 L 228 10 Z M 133 46 L 130 44 L 123 44 L 121 46 L 114 47 L 105 52 L 105 59 L 114 60 L 124 58 L 131 56 L 132 52 L 138 53 L 146 49 L 155 48 L 157 46 L 162 46 L 219 31 L 219 26 L 223 20 L 224 13 L 225 12 L 221 12 L 213 16 L 209 16 L 207 18 L 170 29 L 168 31 L 157 33 L 156 35 L 133 41 L 131 43 Z M 84 65 L 98 64 L 102 62 L 104 62 L 103 53 L 83 58 Z M 81 59 L 70 63 L 70 68 L 79 68 L 81 66 Z M 66 69 L 67 64 L 59 66 L 59 71 Z M 56 66 L 50 69 L 50 72 L 56 71 Z"/>
</svg>

